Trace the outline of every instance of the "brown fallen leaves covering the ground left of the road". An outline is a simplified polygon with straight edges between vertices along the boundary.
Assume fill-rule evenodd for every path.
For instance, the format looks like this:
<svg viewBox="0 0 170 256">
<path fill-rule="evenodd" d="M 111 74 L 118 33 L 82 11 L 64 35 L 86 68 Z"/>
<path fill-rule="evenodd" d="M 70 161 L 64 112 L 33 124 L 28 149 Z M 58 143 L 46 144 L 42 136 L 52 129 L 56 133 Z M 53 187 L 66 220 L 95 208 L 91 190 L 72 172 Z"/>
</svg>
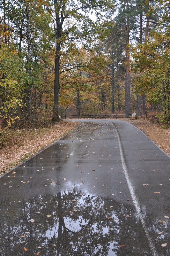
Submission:
<svg viewBox="0 0 170 256">
<path fill-rule="evenodd" d="M 15 144 L 0 149 L 0 172 L 7 172 L 9 168 L 29 158 L 80 124 L 81 122 L 60 121 L 48 128 L 17 130 L 14 133 L 17 134 L 17 140 L 13 140 Z"/>
</svg>

